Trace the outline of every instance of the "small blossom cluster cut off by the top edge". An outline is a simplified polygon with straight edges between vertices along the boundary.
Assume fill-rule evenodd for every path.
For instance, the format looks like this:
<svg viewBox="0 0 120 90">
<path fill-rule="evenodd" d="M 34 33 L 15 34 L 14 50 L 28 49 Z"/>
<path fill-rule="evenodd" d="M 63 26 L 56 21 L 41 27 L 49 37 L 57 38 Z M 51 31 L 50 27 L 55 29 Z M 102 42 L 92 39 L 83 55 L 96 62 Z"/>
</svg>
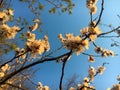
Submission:
<svg viewBox="0 0 120 90">
<path fill-rule="evenodd" d="M 90 9 L 91 14 L 95 14 L 97 12 L 97 3 L 98 0 L 87 0 L 87 7 Z"/>
</svg>

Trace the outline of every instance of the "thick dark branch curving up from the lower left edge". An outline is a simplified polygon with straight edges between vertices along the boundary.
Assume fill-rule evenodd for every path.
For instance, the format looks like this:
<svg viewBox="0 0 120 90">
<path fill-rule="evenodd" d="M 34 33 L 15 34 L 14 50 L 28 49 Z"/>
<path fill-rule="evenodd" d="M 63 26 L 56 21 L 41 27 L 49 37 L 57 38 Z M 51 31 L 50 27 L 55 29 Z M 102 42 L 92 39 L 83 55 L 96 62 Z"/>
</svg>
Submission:
<svg viewBox="0 0 120 90">
<path fill-rule="evenodd" d="M 71 51 L 70 51 L 70 52 L 67 52 L 67 53 L 65 53 L 65 54 L 63 54 L 63 55 L 60 55 L 60 56 L 58 56 L 58 57 L 40 59 L 40 60 L 38 60 L 38 61 L 36 61 L 36 62 L 33 62 L 33 63 L 29 64 L 29 65 L 26 65 L 26 66 L 24 66 L 23 68 L 20 68 L 20 69 L 16 70 L 15 72 L 12 72 L 12 73 L 10 73 L 9 75 L 3 77 L 3 78 L 0 80 L 0 85 L 4 84 L 7 80 L 9 80 L 10 78 L 12 78 L 13 76 L 15 76 L 16 74 L 20 73 L 21 71 L 23 71 L 23 70 L 25 70 L 25 69 L 28 69 L 28 68 L 30 68 L 30 67 L 33 67 L 33 66 L 37 65 L 37 64 L 44 63 L 44 62 L 47 62 L 47 61 L 55 61 L 55 60 L 57 60 L 57 59 L 59 59 L 59 58 L 61 58 L 61 57 L 64 57 L 64 56 L 66 56 L 66 55 L 69 55 L 69 54 L 71 54 Z"/>
</svg>

